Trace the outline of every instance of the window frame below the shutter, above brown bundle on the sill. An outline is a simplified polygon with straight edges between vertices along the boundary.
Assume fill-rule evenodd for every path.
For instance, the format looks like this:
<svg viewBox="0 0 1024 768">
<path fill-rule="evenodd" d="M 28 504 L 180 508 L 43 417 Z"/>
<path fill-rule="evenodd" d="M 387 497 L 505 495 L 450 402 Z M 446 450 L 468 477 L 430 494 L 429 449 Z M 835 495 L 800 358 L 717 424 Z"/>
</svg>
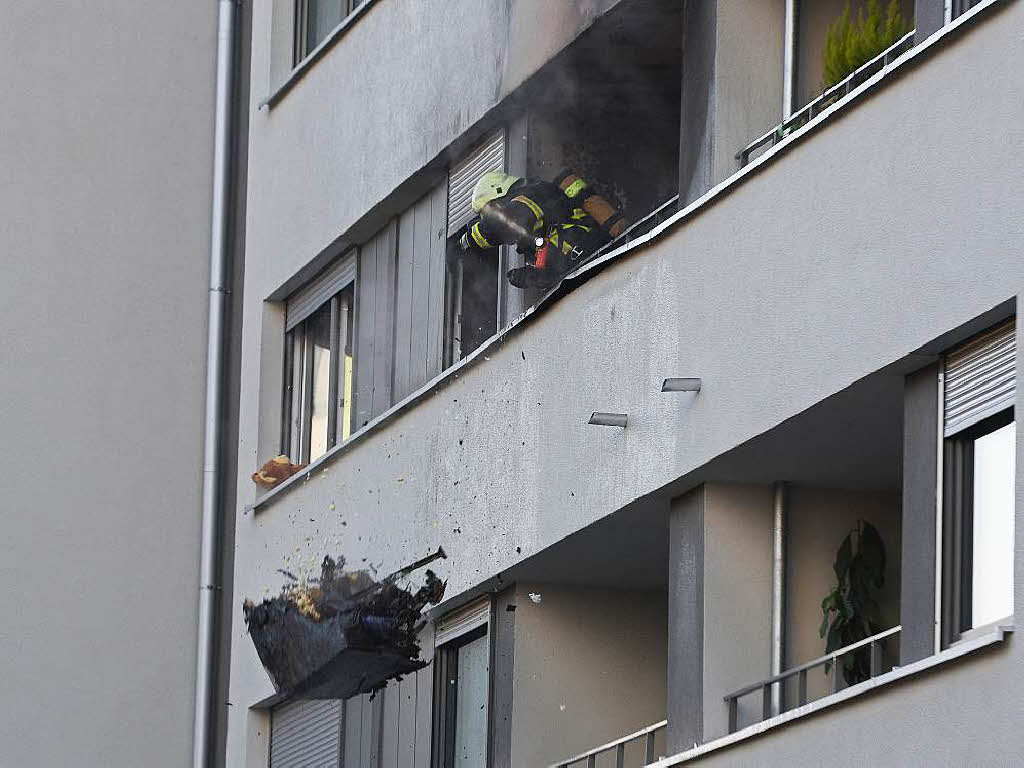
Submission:
<svg viewBox="0 0 1024 768">
<path fill-rule="evenodd" d="M 345 296 L 345 294 L 348 294 Z M 325 453 L 347 440 L 353 430 L 355 385 L 355 278 L 346 280 L 327 301 L 317 305 L 305 317 L 299 321 L 291 329 L 285 329 L 285 350 L 282 382 L 282 418 L 281 418 L 281 453 L 292 459 L 297 464 L 308 464 L 311 453 L 312 437 L 312 389 L 313 377 L 312 358 L 313 345 L 309 343 L 308 324 L 311 318 L 324 307 L 330 307 L 330 353 L 331 367 L 330 379 L 328 380 L 328 422 L 327 422 L 327 449 Z M 297 345 L 296 341 L 300 343 Z M 300 421 L 295 424 L 296 406 L 296 376 L 295 366 L 299 360 L 296 357 L 296 347 L 302 350 L 301 377 L 299 383 L 302 391 L 298 394 L 298 409 Z M 348 377 L 350 381 L 350 397 L 342 395 L 342 387 L 345 384 L 345 350 L 351 349 L 352 371 Z M 307 373 L 309 375 L 307 375 Z M 348 409 L 347 434 L 344 423 L 344 413 Z M 297 428 L 296 428 L 297 427 Z M 298 440 L 298 446 L 295 442 Z M 293 453 L 294 452 L 294 453 Z M 316 457 L 317 459 L 319 457 Z"/>
</svg>

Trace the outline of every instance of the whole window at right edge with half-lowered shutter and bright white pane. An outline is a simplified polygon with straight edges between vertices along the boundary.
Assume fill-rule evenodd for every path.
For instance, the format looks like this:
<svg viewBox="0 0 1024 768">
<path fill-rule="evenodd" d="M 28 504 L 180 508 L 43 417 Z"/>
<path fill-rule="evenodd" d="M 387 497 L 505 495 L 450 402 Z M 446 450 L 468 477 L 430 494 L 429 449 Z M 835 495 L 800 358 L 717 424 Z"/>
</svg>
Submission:
<svg viewBox="0 0 1024 768">
<path fill-rule="evenodd" d="M 943 645 L 1014 612 L 1016 324 L 949 352 L 943 392 Z"/>
</svg>

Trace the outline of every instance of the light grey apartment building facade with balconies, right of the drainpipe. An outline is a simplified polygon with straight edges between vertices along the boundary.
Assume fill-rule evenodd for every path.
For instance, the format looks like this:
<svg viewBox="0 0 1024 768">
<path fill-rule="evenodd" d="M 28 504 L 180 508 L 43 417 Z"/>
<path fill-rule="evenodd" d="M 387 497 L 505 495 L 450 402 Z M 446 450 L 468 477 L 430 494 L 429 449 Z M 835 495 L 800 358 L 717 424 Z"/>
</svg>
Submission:
<svg viewBox="0 0 1024 768">
<path fill-rule="evenodd" d="M 903 3 L 822 93 L 842 8 L 253 4 L 227 765 L 1019 752 L 1024 7 Z M 479 173 L 563 167 L 637 226 L 548 295 L 447 258 Z M 275 694 L 244 599 L 438 546 L 427 668 Z"/>
</svg>

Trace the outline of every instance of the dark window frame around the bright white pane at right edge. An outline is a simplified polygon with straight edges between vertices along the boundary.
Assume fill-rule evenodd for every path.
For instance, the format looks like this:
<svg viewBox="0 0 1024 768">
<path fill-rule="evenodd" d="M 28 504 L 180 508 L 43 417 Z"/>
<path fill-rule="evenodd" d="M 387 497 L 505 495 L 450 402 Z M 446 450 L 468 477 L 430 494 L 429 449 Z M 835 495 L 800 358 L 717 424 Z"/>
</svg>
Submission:
<svg viewBox="0 0 1024 768">
<path fill-rule="evenodd" d="M 941 647 L 973 636 L 974 443 L 1016 421 L 1010 407 L 943 438 Z"/>
</svg>

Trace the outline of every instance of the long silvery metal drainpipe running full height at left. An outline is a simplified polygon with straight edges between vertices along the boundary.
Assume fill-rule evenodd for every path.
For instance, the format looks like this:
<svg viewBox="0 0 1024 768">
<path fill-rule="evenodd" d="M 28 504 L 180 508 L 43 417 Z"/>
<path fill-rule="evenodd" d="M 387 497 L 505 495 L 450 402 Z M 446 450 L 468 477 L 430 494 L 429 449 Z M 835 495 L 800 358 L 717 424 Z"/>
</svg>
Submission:
<svg viewBox="0 0 1024 768">
<path fill-rule="evenodd" d="M 217 83 L 213 129 L 213 200 L 210 227 L 209 327 L 206 351 L 206 422 L 203 435 L 202 544 L 199 573 L 199 632 L 196 642 L 196 709 L 193 766 L 213 765 L 217 693 L 217 607 L 221 591 L 220 464 L 224 399 L 224 335 L 227 328 L 229 253 L 227 241 L 231 158 L 231 96 L 234 81 L 237 0 L 218 1 Z"/>
</svg>

